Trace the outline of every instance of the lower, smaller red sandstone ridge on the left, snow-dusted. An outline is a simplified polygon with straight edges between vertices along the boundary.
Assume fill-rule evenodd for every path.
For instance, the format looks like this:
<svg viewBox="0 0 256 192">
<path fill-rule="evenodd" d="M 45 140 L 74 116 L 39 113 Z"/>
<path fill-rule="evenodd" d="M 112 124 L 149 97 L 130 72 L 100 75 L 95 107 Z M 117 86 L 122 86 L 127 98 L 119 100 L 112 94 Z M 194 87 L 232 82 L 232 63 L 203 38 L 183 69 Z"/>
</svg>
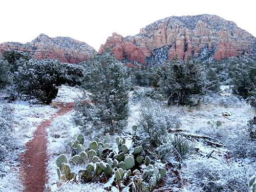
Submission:
<svg viewBox="0 0 256 192">
<path fill-rule="evenodd" d="M 45 34 L 40 34 L 26 44 L 4 42 L 0 44 L 0 56 L 9 49 L 26 52 L 36 59 L 50 58 L 68 63 L 79 63 L 96 54 L 96 51 L 84 42 L 70 37 L 50 38 Z"/>
</svg>

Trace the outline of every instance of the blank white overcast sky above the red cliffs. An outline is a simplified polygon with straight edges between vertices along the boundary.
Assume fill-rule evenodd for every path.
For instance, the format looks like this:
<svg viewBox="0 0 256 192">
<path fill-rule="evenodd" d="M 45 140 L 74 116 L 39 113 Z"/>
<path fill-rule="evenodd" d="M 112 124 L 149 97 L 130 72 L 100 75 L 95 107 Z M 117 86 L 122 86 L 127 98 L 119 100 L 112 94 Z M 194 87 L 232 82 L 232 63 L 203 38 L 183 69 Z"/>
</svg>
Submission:
<svg viewBox="0 0 256 192">
<path fill-rule="evenodd" d="M 0 42 L 29 42 L 40 33 L 69 36 L 98 51 L 117 32 L 135 35 L 168 16 L 215 14 L 256 36 L 255 0 L 1 0 Z"/>
</svg>

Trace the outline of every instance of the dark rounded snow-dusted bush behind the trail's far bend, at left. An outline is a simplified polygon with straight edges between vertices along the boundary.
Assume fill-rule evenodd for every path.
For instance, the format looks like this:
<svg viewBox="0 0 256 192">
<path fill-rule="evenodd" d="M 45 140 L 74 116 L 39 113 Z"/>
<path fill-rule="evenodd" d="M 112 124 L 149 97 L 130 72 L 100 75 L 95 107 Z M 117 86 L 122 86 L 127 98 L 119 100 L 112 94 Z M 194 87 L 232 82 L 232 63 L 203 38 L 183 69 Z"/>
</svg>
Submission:
<svg viewBox="0 0 256 192">
<path fill-rule="evenodd" d="M 56 60 L 22 62 L 15 72 L 17 90 L 49 104 L 58 93 L 60 69 Z"/>
</svg>

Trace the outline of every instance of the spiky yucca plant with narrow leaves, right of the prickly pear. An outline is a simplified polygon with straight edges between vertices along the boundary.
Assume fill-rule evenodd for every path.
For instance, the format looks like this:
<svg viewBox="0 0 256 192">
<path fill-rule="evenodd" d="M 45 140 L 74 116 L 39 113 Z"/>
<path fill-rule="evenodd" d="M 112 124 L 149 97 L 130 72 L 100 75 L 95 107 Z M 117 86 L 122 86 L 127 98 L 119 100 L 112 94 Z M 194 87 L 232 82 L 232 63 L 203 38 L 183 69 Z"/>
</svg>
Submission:
<svg viewBox="0 0 256 192">
<path fill-rule="evenodd" d="M 194 146 L 180 134 L 167 134 L 168 141 L 173 145 L 176 159 L 182 162 L 189 155 L 193 154 Z"/>
</svg>

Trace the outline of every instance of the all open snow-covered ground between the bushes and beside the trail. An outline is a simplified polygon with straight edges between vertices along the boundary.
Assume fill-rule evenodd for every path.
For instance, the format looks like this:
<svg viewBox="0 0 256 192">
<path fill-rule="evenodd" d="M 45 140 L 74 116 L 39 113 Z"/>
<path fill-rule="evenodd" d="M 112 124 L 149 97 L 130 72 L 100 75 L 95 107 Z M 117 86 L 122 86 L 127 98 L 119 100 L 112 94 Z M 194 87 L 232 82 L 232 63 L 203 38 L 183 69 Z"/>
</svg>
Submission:
<svg viewBox="0 0 256 192">
<path fill-rule="evenodd" d="M 140 88 L 137 88 L 140 89 Z M 143 88 L 142 88 L 143 89 Z M 171 106 L 168 109 L 175 114 L 179 114 L 179 121 L 183 133 L 195 134 L 195 135 L 207 135 L 216 138 L 218 141 L 226 144 L 229 139 L 234 137 L 238 131 L 245 129 L 249 119 L 251 119 L 255 112 L 244 101 L 233 96 L 230 91 L 230 87 L 221 87 L 222 92 L 216 95 L 205 96 L 204 103 L 198 108 L 189 108 L 186 106 L 178 107 Z M 79 88 L 72 88 L 69 86 L 61 86 L 59 88 L 58 96 L 54 99 L 55 102 L 74 102 L 77 98 L 82 96 L 82 91 Z M 134 92 L 129 93 L 129 118 L 127 119 L 127 126 L 124 131 L 131 131 L 131 127 L 138 123 L 140 113 L 140 102 L 133 99 Z M 214 99 L 212 99 L 214 98 Z M 212 101 L 211 101 L 212 99 Z M 208 103 L 208 101 L 211 101 Z M 18 178 L 18 153 L 22 152 L 23 147 L 27 141 L 33 136 L 33 131 L 36 126 L 49 119 L 57 109 L 49 105 L 30 104 L 29 102 L 17 101 L 10 104 L 14 109 L 15 119 L 15 132 L 14 135 L 18 138 L 19 150 L 11 155 L 6 169 L 9 173 L 6 177 L 0 178 L 0 191 L 22 191 L 23 186 L 19 182 Z M 74 183 L 74 182 L 60 182 L 57 176 L 56 158 L 60 154 L 69 154 L 67 151 L 67 143 L 70 140 L 74 140 L 75 136 L 80 133 L 79 127 L 73 122 L 74 112 L 71 111 L 65 115 L 59 116 L 51 123 L 47 128 L 48 132 L 48 154 L 49 161 L 47 166 L 48 171 L 48 183 L 46 184 L 47 191 L 104 191 L 103 185 L 100 183 Z M 221 121 L 221 126 L 212 125 L 210 122 Z M 85 138 L 86 140 L 88 138 Z M 195 174 L 194 166 L 200 166 L 201 164 L 209 164 L 209 168 L 214 166 L 218 167 L 220 172 L 227 170 L 227 172 L 234 172 L 236 168 L 230 168 L 230 166 L 239 166 L 242 162 L 245 167 L 254 170 L 256 169 L 255 163 L 252 159 L 240 159 L 239 163 L 226 162 L 226 154 L 228 153 L 227 147 L 215 147 L 207 145 L 202 140 L 191 140 L 198 148 L 198 152 L 190 156 L 180 170 L 181 175 L 184 178 L 189 179 L 190 175 Z M 88 141 L 86 141 L 88 142 Z M 214 150 L 211 158 L 206 159 L 209 152 Z M 81 167 L 72 167 L 73 170 L 78 170 Z M 230 168 L 230 169 L 229 169 Z M 241 166 L 237 168 L 240 171 Z M 190 171 L 189 171 L 190 170 Z M 245 181 L 246 182 L 246 181 Z M 168 185 L 168 178 L 166 180 Z M 193 188 L 195 186 L 187 183 L 184 186 L 184 191 L 196 191 L 199 188 Z"/>
</svg>

